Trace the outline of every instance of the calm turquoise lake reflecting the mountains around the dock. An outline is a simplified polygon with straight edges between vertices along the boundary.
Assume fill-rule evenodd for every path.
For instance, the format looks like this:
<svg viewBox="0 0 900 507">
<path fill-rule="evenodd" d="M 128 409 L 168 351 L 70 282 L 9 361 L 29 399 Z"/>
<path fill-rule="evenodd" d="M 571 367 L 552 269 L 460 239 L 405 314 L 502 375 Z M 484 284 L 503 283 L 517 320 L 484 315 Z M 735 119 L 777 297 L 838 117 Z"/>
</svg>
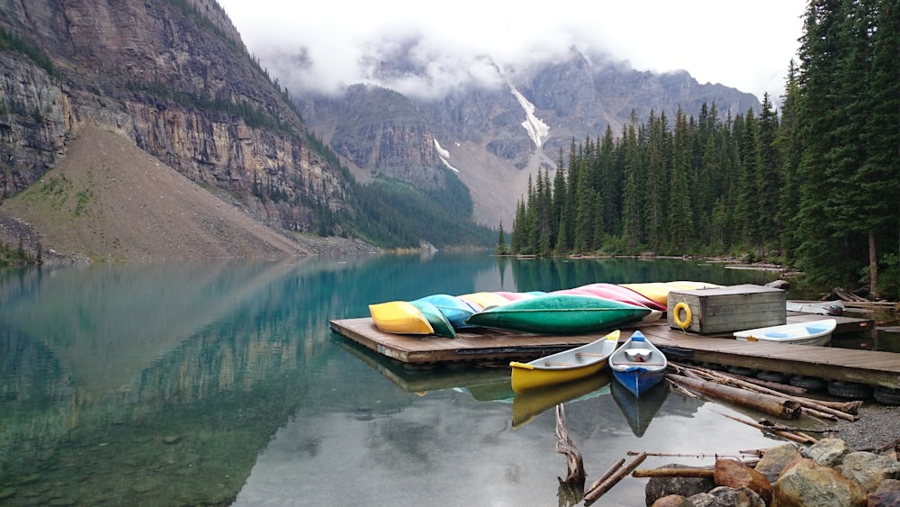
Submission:
<svg viewBox="0 0 900 507">
<path fill-rule="evenodd" d="M 2 269 L 0 504 L 568 504 L 560 402 L 588 484 L 629 451 L 770 447 L 724 405 L 664 389 L 635 417 L 603 376 L 517 397 L 506 367 L 410 371 L 329 320 L 437 293 L 775 278 L 484 252 Z M 643 505 L 644 484 L 598 504 Z"/>
</svg>

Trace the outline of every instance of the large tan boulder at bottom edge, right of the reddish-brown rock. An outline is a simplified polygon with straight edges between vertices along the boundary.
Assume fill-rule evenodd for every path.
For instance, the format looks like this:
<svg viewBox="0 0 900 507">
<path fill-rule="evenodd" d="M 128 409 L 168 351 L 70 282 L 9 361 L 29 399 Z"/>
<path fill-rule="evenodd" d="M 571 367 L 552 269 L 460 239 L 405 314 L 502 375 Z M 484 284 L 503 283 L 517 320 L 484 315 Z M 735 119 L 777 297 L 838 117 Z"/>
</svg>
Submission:
<svg viewBox="0 0 900 507">
<path fill-rule="evenodd" d="M 772 489 L 774 507 L 863 507 L 866 491 L 837 470 L 800 458 L 781 473 Z"/>
</svg>

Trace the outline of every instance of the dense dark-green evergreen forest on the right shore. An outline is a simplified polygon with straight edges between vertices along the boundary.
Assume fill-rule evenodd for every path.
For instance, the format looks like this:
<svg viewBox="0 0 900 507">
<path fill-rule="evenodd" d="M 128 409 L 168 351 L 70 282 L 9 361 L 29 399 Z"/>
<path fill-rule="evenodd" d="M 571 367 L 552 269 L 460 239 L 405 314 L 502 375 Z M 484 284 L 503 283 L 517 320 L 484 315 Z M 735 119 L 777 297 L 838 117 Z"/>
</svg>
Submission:
<svg viewBox="0 0 900 507">
<path fill-rule="evenodd" d="M 572 140 L 500 253 L 740 255 L 900 296 L 900 0 L 811 0 L 780 112 L 632 114 Z"/>
</svg>

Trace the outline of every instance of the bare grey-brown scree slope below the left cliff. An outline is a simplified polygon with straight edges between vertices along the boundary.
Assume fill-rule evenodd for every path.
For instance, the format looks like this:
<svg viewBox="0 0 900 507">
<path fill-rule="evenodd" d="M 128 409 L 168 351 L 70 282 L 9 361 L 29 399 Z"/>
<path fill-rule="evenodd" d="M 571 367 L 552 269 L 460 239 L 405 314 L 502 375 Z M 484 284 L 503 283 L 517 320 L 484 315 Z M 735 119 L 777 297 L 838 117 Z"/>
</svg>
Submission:
<svg viewBox="0 0 900 507">
<path fill-rule="evenodd" d="M 0 241 L 45 260 L 284 257 L 373 251 L 365 243 L 293 238 L 257 222 L 133 141 L 88 126 L 40 182 L 0 205 Z M 51 251 L 52 250 L 52 251 Z"/>
</svg>

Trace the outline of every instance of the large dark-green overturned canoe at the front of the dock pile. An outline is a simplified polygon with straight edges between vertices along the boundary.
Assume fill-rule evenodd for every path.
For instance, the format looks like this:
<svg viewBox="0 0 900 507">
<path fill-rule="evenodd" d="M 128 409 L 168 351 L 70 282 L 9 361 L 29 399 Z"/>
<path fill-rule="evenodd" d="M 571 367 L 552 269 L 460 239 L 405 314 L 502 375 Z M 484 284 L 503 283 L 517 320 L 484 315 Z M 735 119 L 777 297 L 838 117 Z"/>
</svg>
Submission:
<svg viewBox="0 0 900 507">
<path fill-rule="evenodd" d="M 581 294 L 544 294 L 474 313 L 466 324 L 535 334 L 586 334 L 641 321 L 651 310 Z"/>
</svg>

